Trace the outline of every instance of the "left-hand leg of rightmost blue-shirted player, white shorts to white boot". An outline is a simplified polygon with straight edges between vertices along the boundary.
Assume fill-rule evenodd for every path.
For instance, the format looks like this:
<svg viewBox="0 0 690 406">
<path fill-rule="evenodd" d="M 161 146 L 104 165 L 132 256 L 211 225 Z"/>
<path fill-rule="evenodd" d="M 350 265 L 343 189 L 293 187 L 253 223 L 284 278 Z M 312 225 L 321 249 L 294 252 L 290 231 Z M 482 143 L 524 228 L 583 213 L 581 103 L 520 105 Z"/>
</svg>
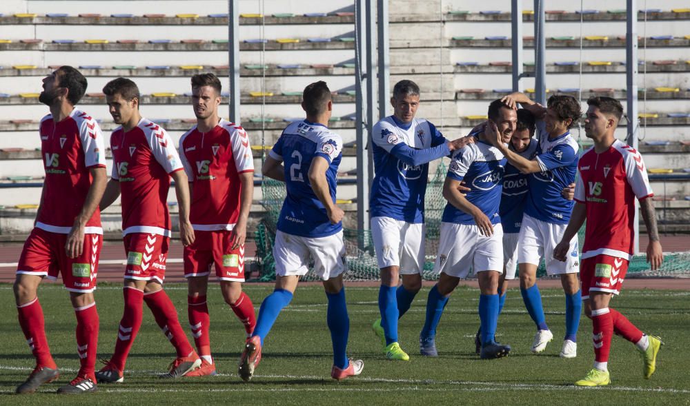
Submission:
<svg viewBox="0 0 690 406">
<path fill-rule="evenodd" d="M 527 313 L 537 327 L 537 333 L 532 343 L 532 352 L 538 353 L 546 349 L 546 344 L 553 340 L 553 334 L 546 325 L 542 295 L 537 286 L 537 267 L 544 256 L 544 228 L 543 222 L 524 215 L 520 228 L 520 245 L 518 247 L 517 262 L 520 273 L 520 294 L 527 309 Z"/>
</svg>

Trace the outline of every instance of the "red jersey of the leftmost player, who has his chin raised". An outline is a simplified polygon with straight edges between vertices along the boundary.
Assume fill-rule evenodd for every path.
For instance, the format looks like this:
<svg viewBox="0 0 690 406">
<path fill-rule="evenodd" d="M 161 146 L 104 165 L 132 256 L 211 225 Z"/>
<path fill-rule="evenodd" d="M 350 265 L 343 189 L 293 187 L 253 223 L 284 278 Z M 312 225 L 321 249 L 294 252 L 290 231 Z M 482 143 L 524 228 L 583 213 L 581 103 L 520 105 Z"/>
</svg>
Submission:
<svg viewBox="0 0 690 406">
<path fill-rule="evenodd" d="M 36 227 L 69 234 L 91 186 L 90 168 L 106 168 L 105 144 L 95 119 L 75 108 L 63 121 L 41 119 L 41 157 L 46 170 L 43 203 Z M 86 222 L 87 234 L 103 234 L 98 209 Z"/>
</svg>

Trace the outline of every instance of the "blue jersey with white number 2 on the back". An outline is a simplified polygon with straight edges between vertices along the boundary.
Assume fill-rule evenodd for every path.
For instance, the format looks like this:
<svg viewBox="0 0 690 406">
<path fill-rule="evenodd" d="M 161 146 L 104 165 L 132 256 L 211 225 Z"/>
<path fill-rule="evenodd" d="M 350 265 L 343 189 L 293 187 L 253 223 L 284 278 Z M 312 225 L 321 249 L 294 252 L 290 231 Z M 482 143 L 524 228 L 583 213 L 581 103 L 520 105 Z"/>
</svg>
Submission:
<svg viewBox="0 0 690 406">
<path fill-rule="evenodd" d="M 319 201 L 309 182 L 311 161 L 321 156 L 330 166 L 326 170 L 328 189 L 335 203 L 338 165 L 342 159 L 342 139 L 326 126 L 308 121 L 291 123 L 283 130 L 269 155 L 284 161 L 287 195 L 278 218 L 282 232 L 304 237 L 324 237 L 342 230 L 342 223 L 331 224 L 326 207 Z"/>
</svg>

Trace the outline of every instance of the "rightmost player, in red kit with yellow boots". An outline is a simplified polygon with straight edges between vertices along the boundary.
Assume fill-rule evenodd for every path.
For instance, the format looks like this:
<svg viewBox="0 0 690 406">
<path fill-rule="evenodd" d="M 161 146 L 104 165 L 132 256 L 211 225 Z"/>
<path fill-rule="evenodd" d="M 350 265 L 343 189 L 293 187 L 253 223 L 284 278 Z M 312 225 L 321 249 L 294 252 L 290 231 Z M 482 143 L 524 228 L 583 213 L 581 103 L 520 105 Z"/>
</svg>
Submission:
<svg viewBox="0 0 690 406">
<path fill-rule="evenodd" d="M 650 199 L 653 192 L 642 156 L 615 139 L 613 134 L 623 114 L 620 102 L 610 97 L 591 97 L 587 104 L 584 131 L 593 139 L 594 146 L 580 158 L 580 176 L 575 185 L 577 203 L 553 256 L 565 261 L 568 241 L 586 220 L 580 278 L 584 311 L 593 324 L 595 361 L 593 369 L 575 385 L 600 386 L 611 381 L 607 363 L 613 333 L 634 343 L 642 352 L 644 378 L 654 373 L 656 356 L 663 344 L 660 338 L 642 333 L 625 316 L 609 307 L 613 295 L 620 293 L 633 256 L 635 198 L 640 201 L 642 218 L 647 225 L 647 261 L 652 270 L 661 265 L 663 255 Z"/>
</svg>

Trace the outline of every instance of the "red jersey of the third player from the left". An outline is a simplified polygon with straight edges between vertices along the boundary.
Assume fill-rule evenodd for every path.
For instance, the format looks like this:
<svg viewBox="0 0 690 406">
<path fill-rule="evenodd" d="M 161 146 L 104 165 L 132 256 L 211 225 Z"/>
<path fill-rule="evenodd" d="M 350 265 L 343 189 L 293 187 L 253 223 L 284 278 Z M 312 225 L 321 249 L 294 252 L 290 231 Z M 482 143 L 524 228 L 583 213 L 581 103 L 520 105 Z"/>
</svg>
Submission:
<svg viewBox="0 0 690 406">
<path fill-rule="evenodd" d="M 179 140 L 179 156 L 193 182 L 190 221 L 194 230 L 233 230 L 239 217 L 239 174 L 254 172 L 244 128 L 221 120 L 209 132 L 197 127 Z"/>
</svg>

